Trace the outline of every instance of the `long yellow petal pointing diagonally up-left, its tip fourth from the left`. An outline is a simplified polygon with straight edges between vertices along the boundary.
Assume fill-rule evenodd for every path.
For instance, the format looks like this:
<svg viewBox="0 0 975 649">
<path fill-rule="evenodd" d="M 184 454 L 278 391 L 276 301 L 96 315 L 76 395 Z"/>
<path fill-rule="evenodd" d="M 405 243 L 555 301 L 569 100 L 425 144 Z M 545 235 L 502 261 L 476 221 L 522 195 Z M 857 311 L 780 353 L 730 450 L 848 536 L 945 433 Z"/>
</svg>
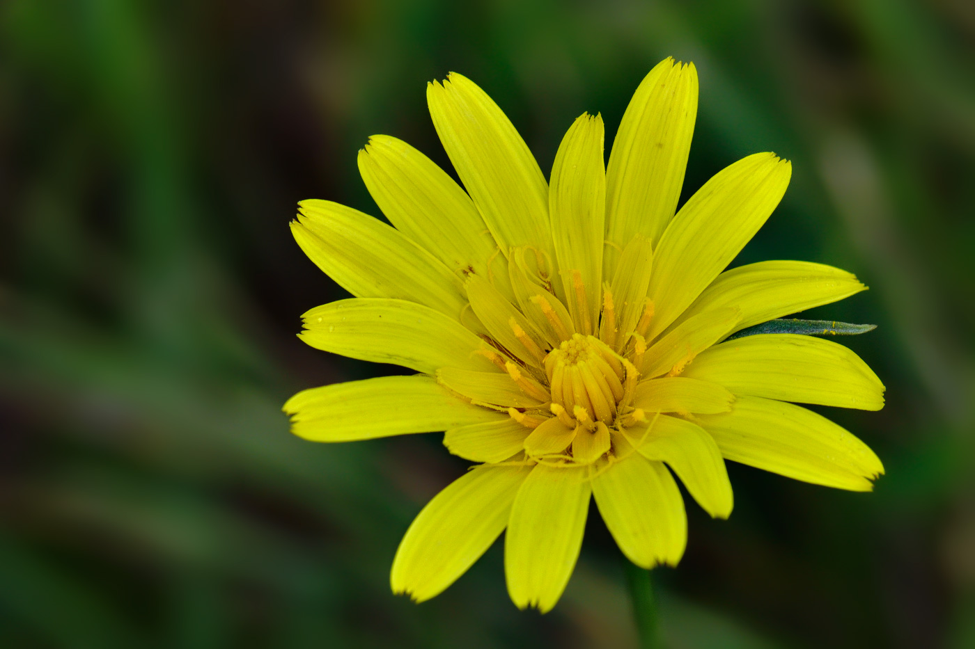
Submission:
<svg viewBox="0 0 975 649">
<path fill-rule="evenodd" d="M 477 273 L 505 295 L 507 260 L 474 202 L 432 160 L 389 135 L 372 135 L 359 151 L 359 172 L 372 199 L 396 229 L 454 273 Z"/>
</svg>

